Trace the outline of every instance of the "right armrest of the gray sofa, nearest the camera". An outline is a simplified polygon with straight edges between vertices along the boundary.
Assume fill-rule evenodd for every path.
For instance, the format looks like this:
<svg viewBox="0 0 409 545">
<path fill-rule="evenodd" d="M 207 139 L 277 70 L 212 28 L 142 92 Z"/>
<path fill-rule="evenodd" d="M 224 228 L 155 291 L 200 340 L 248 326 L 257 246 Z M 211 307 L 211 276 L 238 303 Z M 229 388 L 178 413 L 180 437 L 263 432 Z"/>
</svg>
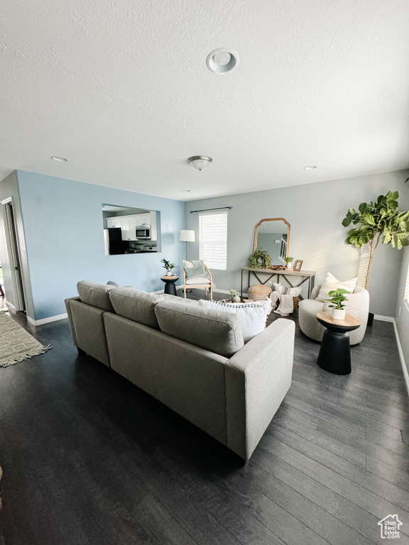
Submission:
<svg viewBox="0 0 409 545">
<path fill-rule="evenodd" d="M 227 446 L 248 460 L 291 385 L 295 324 L 278 319 L 225 365 Z"/>
</svg>

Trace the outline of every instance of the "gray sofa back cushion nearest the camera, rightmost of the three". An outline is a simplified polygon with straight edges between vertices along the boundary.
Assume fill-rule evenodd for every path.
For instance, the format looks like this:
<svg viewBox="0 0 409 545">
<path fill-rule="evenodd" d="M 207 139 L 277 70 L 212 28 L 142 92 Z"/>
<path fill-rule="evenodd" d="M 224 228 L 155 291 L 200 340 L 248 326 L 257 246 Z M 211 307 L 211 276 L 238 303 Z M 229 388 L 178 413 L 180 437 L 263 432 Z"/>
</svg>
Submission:
<svg viewBox="0 0 409 545">
<path fill-rule="evenodd" d="M 163 333 L 230 358 L 244 346 L 239 317 L 230 312 L 163 301 L 155 307 Z"/>
</svg>

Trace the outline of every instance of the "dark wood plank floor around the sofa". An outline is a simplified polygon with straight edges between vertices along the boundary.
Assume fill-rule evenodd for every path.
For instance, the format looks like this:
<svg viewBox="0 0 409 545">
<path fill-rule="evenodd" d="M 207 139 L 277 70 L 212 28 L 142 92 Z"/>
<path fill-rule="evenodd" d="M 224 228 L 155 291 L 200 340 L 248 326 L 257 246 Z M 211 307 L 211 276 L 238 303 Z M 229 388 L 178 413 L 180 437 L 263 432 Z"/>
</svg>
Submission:
<svg viewBox="0 0 409 545">
<path fill-rule="evenodd" d="M 392 324 L 375 321 L 352 347 L 349 376 L 318 368 L 320 345 L 297 326 L 293 385 L 246 466 L 78 355 L 67 321 L 35 336 L 53 349 L 0 368 L 1 545 L 373 545 L 388 514 L 409 543 Z"/>
</svg>

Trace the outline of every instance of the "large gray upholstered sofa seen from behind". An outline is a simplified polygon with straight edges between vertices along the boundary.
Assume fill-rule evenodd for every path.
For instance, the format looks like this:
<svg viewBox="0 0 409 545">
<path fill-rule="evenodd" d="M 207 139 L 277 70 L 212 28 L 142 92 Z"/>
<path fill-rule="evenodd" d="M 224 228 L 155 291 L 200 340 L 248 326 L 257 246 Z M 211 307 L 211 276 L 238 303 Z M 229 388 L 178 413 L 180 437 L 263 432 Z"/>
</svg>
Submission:
<svg viewBox="0 0 409 545">
<path fill-rule="evenodd" d="M 250 458 L 291 384 L 293 321 L 244 344 L 236 314 L 88 280 L 77 289 L 65 304 L 78 349 Z"/>
</svg>

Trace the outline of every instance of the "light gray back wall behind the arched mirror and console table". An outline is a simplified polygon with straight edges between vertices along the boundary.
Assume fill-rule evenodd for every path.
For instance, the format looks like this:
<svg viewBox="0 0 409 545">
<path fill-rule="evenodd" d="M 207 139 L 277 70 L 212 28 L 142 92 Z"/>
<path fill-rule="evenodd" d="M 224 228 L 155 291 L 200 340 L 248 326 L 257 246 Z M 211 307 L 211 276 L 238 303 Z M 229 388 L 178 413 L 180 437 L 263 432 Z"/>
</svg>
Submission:
<svg viewBox="0 0 409 545">
<path fill-rule="evenodd" d="M 240 268 L 247 265 L 253 251 L 254 226 L 263 218 L 274 217 L 283 217 L 290 223 L 288 255 L 303 260 L 303 270 L 317 271 L 316 284 L 330 271 L 339 280 L 358 276 L 359 285 L 364 285 L 369 251 L 344 243 L 347 229 L 342 226 L 342 219 L 349 207 L 358 207 L 388 190 L 408 192 L 406 177 L 406 172 L 386 172 L 187 202 L 186 229 L 198 233 L 198 214 L 190 214 L 190 210 L 233 207 L 228 219 L 228 269 L 212 271 L 221 290 L 239 289 Z M 193 259 L 198 257 L 197 243 L 190 243 L 190 255 Z M 380 245 L 376 250 L 369 283 L 374 314 L 395 316 L 402 255 L 390 245 Z"/>
</svg>

